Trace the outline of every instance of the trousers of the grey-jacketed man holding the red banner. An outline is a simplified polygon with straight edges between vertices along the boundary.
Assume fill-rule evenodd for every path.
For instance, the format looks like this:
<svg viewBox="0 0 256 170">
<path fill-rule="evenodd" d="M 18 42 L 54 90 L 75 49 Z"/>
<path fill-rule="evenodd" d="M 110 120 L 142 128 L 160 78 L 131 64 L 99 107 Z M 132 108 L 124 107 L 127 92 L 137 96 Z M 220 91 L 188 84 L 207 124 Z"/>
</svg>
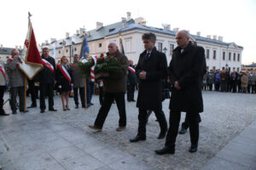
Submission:
<svg viewBox="0 0 256 170">
<path fill-rule="evenodd" d="M 24 111 L 24 97 L 25 97 L 24 90 L 25 90 L 24 86 L 10 88 L 10 94 L 11 94 L 10 105 L 11 105 L 12 111 L 17 110 L 17 102 L 16 102 L 17 94 L 19 95 L 20 111 Z"/>
</svg>

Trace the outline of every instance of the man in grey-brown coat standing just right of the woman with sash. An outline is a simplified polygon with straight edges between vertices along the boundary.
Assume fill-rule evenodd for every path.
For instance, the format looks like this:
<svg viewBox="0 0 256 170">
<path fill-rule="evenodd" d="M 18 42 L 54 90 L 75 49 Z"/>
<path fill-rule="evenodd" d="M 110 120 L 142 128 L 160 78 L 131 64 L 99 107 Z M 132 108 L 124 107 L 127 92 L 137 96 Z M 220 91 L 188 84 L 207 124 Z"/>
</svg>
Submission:
<svg viewBox="0 0 256 170">
<path fill-rule="evenodd" d="M 73 93 L 74 93 L 74 102 L 76 105 L 76 109 L 79 108 L 79 94 L 81 99 L 81 105 L 85 108 L 85 101 L 84 101 L 84 77 L 79 71 L 79 55 L 75 54 L 73 56 L 73 64 L 71 65 L 72 77 L 73 77 Z"/>
</svg>

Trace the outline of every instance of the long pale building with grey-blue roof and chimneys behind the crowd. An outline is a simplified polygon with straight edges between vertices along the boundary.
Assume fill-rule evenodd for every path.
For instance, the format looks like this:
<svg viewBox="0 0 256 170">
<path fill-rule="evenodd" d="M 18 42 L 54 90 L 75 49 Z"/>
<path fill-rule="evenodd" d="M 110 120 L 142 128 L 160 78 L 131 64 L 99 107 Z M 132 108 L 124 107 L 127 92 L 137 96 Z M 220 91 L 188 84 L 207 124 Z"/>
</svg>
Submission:
<svg viewBox="0 0 256 170">
<path fill-rule="evenodd" d="M 177 48 L 176 33 L 177 28 L 171 31 L 171 26 L 164 28 L 155 28 L 146 26 L 146 20 L 142 17 L 135 20 L 131 19 L 131 13 L 127 13 L 127 18 L 122 18 L 120 22 L 112 25 L 103 26 L 102 23 L 96 22 L 96 29 L 86 31 L 80 28 L 73 36 L 66 34 L 66 38 L 54 40 L 50 43 L 45 42 L 40 47 L 48 47 L 49 53 L 52 55 L 52 46 L 55 43 L 55 59 L 56 62 L 61 56 L 66 55 L 68 59 L 73 61 L 71 56 L 71 44 L 73 43 L 73 54 L 80 54 L 83 35 L 86 34 L 90 54 L 105 54 L 108 51 L 108 43 L 116 42 L 119 45 L 119 35 L 123 40 L 125 55 L 128 59 L 132 59 L 136 64 L 138 57 L 143 53 L 143 33 L 153 32 L 157 41 L 155 47 L 166 54 L 167 62 L 172 59 L 172 50 Z M 196 35 L 190 34 L 190 40 L 197 42 L 198 46 L 205 48 L 207 59 L 207 70 L 229 69 L 230 71 L 241 71 L 241 56 L 243 48 L 236 45 L 235 42 L 223 42 L 223 37 L 207 36 L 201 37 L 201 33 Z M 66 45 L 63 46 L 63 41 Z"/>
</svg>

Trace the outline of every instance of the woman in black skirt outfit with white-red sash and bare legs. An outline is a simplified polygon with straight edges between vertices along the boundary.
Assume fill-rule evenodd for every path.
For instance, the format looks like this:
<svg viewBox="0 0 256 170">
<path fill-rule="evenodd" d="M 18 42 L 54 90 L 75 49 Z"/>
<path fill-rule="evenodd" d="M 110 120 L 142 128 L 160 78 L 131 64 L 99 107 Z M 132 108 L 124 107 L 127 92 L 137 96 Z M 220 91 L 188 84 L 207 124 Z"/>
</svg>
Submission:
<svg viewBox="0 0 256 170">
<path fill-rule="evenodd" d="M 69 111 L 68 106 L 68 94 L 71 91 L 71 72 L 70 72 L 70 65 L 68 64 L 68 60 L 66 56 L 61 57 L 61 65 L 57 65 L 56 70 L 56 80 L 61 88 L 61 101 L 62 101 L 62 108 L 63 111 Z M 66 105 L 65 105 L 66 99 Z"/>
</svg>

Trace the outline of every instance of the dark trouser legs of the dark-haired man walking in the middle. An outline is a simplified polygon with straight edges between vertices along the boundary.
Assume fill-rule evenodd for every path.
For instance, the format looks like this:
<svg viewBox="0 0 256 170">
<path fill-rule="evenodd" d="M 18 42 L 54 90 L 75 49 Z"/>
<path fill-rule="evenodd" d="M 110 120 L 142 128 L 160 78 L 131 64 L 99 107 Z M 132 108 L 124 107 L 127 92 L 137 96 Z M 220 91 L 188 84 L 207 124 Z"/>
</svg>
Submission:
<svg viewBox="0 0 256 170">
<path fill-rule="evenodd" d="M 138 135 L 140 136 L 146 136 L 146 124 L 147 124 L 147 118 L 148 118 L 148 110 L 139 108 L 139 115 L 138 115 Z M 167 122 L 166 122 L 166 116 L 163 111 L 161 110 L 155 110 L 154 115 L 156 116 L 161 132 L 166 132 L 167 130 Z"/>
</svg>

